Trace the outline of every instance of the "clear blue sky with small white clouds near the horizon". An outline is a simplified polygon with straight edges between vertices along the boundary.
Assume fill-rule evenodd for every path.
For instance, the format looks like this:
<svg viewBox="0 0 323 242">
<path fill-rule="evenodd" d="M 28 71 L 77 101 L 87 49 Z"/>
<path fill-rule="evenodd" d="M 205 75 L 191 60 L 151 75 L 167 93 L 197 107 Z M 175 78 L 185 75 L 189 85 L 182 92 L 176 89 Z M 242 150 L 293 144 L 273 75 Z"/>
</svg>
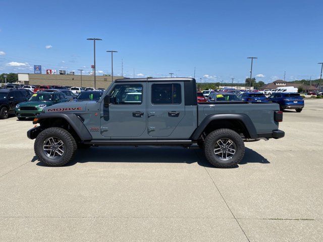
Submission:
<svg viewBox="0 0 323 242">
<path fill-rule="evenodd" d="M 89 75 L 195 77 L 202 82 L 317 79 L 323 1 L 1 1 L 0 73 L 33 65 Z"/>
</svg>

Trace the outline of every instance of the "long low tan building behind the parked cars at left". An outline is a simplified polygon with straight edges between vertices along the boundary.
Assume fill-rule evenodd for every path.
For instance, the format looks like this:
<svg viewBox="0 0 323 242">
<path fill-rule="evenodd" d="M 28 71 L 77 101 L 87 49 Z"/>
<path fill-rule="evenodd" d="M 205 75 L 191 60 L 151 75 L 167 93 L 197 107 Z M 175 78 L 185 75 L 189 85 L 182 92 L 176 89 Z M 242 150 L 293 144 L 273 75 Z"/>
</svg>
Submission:
<svg viewBox="0 0 323 242">
<path fill-rule="evenodd" d="M 113 80 L 123 78 L 114 76 Z M 112 77 L 96 76 L 96 88 L 106 89 L 112 83 Z M 71 87 L 94 87 L 94 76 L 82 75 L 47 75 L 18 73 L 18 82 L 29 85 L 48 86 L 71 86 Z"/>
</svg>

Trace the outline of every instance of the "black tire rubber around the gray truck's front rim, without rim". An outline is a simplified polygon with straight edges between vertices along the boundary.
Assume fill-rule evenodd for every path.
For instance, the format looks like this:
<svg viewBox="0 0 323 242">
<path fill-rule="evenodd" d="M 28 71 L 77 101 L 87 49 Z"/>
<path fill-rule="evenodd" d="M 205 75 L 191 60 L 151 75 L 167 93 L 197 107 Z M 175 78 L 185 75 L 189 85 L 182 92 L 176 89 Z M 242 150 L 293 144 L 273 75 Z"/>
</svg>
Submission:
<svg viewBox="0 0 323 242">
<path fill-rule="evenodd" d="M 47 157 L 43 151 L 43 143 L 49 137 L 56 137 L 64 143 L 64 153 L 58 159 Z M 67 130 L 57 127 L 48 128 L 40 132 L 34 143 L 34 151 L 38 159 L 48 166 L 63 166 L 67 164 L 74 158 L 76 150 L 77 144 L 73 136 Z"/>
</svg>

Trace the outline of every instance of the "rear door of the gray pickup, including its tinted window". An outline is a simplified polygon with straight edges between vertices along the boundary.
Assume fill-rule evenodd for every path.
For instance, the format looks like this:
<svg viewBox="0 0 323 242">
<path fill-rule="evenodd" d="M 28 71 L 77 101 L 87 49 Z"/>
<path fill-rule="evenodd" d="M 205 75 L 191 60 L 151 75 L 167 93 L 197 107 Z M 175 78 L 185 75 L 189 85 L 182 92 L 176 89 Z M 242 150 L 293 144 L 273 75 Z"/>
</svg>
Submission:
<svg viewBox="0 0 323 242">
<path fill-rule="evenodd" d="M 148 90 L 148 135 L 172 138 L 173 131 L 185 116 L 184 84 L 148 82 Z"/>
</svg>

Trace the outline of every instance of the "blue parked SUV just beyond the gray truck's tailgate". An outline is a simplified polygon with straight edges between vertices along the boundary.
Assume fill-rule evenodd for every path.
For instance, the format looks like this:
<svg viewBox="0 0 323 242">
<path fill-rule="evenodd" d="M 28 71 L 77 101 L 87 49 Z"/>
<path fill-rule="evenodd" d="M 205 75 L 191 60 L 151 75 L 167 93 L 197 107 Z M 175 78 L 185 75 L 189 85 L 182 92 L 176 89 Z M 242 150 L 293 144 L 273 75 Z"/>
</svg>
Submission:
<svg viewBox="0 0 323 242">
<path fill-rule="evenodd" d="M 279 104 L 281 110 L 295 109 L 301 112 L 304 107 L 304 99 L 299 93 L 277 92 L 269 97 L 269 100 Z"/>
</svg>

